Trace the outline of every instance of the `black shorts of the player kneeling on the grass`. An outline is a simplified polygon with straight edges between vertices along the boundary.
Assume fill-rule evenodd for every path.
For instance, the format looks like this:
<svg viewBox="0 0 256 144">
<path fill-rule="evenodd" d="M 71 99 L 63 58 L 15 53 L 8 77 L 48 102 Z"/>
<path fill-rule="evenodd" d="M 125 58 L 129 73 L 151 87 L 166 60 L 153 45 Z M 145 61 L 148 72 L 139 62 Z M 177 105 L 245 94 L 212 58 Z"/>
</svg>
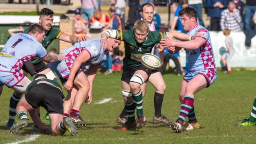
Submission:
<svg viewBox="0 0 256 144">
<path fill-rule="evenodd" d="M 49 114 L 63 114 L 64 95 L 60 89 L 49 84 L 37 84 L 25 94 L 25 99 L 33 108 L 42 106 Z"/>
</svg>

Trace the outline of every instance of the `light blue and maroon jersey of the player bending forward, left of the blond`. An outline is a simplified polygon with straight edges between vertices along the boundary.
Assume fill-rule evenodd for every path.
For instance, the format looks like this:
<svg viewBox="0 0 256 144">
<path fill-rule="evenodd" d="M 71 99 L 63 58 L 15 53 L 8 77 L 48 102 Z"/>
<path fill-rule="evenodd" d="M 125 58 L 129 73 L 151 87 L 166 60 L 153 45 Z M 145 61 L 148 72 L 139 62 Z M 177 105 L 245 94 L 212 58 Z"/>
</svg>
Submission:
<svg viewBox="0 0 256 144">
<path fill-rule="evenodd" d="M 104 52 L 100 45 L 100 39 L 76 42 L 61 53 L 66 55 L 65 60 L 67 62 L 74 61 L 83 50 L 86 50 L 90 54 L 90 59 L 84 63 L 85 65 L 101 64 L 108 59 L 108 50 Z"/>
</svg>

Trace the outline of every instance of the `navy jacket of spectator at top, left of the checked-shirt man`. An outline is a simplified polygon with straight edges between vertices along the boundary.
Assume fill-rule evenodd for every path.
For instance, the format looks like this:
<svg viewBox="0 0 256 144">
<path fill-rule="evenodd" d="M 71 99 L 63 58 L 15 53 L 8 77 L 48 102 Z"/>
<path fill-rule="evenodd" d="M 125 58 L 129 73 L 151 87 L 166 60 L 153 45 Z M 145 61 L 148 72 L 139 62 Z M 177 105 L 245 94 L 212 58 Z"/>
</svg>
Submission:
<svg viewBox="0 0 256 144">
<path fill-rule="evenodd" d="M 221 2 L 221 4 L 224 5 L 224 8 L 220 9 L 219 7 L 214 7 L 213 5 L 216 2 Z M 212 18 L 220 18 L 220 13 L 222 10 L 225 10 L 227 8 L 227 0 L 207 0 L 207 7 L 208 7 L 208 16 Z"/>
</svg>

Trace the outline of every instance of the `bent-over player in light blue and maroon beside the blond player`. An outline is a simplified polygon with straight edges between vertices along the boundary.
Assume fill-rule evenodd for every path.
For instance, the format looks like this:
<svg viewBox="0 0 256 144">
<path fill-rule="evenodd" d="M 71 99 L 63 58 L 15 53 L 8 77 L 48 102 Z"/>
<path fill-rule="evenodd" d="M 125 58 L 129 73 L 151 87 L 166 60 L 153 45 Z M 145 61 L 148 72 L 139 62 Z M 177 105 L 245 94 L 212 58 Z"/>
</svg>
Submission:
<svg viewBox="0 0 256 144">
<path fill-rule="evenodd" d="M 108 51 L 118 48 L 120 40 L 108 38 L 108 46 L 102 48 L 100 39 L 76 42 L 70 48 L 63 50 L 64 60 L 54 64 L 55 72 L 60 78 L 68 96 L 64 101 L 64 118 L 70 117 L 74 123 L 86 125 L 79 116 L 80 107 L 88 95 L 88 104 L 92 102 L 92 86 L 96 70 L 108 59 Z M 90 65 L 88 76 L 82 72 L 83 66 Z M 74 84 L 74 85 L 73 85 Z"/>
</svg>

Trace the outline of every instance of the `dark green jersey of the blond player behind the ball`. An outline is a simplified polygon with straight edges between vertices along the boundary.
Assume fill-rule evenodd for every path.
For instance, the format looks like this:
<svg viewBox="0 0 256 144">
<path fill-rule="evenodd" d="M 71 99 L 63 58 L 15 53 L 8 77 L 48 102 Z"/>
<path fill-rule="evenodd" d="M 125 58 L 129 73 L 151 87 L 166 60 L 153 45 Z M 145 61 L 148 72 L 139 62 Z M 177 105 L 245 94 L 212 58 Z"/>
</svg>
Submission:
<svg viewBox="0 0 256 144">
<path fill-rule="evenodd" d="M 167 38 L 167 32 L 148 32 L 146 40 L 138 43 L 134 36 L 134 30 L 116 30 L 117 40 L 124 41 L 125 57 L 123 60 L 124 66 L 134 68 L 140 66 L 140 57 L 142 54 L 151 53 L 155 44 L 159 43 L 162 38 Z"/>
</svg>

